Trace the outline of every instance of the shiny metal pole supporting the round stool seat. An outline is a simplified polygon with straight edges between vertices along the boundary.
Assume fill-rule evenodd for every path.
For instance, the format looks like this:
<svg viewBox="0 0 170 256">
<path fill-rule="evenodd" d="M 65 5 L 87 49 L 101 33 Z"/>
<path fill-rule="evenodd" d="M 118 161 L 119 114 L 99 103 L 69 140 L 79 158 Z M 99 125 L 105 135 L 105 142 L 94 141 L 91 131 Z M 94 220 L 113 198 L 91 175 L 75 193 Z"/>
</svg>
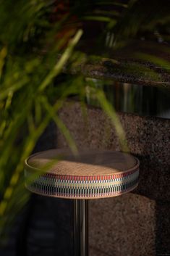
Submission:
<svg viewBox="0 0 170 256">
<path fill-rule="evenodd" d="M 88 200 L 74 202 L 74 256 L 88 256 Z"/>
</svg>

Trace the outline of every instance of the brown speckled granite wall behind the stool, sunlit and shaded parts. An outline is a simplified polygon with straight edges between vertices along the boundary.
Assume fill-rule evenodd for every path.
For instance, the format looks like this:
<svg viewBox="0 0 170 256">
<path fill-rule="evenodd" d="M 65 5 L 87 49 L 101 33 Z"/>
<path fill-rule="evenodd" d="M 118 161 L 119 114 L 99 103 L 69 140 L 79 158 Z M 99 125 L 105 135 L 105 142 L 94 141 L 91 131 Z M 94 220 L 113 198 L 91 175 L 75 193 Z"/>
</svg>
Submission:
<svg viewBox="0 0 170 256">
<path fill-rule="evenodd" d="M 60 112 L 77 145 L 119 150 L 108 118 L 79 103 Z M 140 159 L 140 183 L 130 194 L 90 202 L 90 256 L 170 255 L 170 120 L 119 113 L 129 151 Z M 58 133 L 58 146 L 67 146 Z"/>
</svg>

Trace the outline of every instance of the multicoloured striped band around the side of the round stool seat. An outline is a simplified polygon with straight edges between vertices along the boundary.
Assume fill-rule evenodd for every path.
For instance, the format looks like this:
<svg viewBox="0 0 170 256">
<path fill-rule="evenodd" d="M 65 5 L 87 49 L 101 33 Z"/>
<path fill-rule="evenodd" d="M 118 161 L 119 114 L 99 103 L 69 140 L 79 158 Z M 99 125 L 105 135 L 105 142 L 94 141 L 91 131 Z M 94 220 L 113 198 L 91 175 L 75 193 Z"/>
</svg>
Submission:
<svg viewBox="0 0 170 256">
<path fill-rule="evenodd" d="M 30 173 L 25 169 L 25 176 Z M 57 176 L 46 173 L 33 183 L 26 183 L 27 189 L 48 197 L 92 199 L 116 197 L 135 189 L 139 169 L 113 176 Z"/>
</svg>

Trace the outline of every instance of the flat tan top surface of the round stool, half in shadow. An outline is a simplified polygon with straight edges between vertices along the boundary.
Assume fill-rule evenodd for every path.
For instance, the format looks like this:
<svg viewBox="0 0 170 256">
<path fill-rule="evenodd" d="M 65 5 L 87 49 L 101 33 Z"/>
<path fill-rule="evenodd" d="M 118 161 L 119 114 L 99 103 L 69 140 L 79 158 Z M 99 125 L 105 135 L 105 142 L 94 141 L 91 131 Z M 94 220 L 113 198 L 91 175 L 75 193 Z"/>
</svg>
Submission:
<svg viewBox="0 0 170 256">
<path fill-rule="evenodd" d="M 46 168 L 47 173 L 66 176 L 126 173 L 137 165 L 138 160 L 130 154 L 100 149 L 83 149 L 77 156 L 68 149 L 51 149 L 26 160 L 26 167 L 32 171 Z"/>
</svg>

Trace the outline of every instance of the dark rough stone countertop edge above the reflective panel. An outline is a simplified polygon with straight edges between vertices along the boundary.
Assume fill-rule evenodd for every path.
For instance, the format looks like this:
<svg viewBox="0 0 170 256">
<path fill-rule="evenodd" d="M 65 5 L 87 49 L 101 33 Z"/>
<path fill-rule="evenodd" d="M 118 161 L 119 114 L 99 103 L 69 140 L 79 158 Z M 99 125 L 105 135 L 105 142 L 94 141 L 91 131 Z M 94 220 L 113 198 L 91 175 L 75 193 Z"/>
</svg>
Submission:
<svg viewBox="0 0 170 256">
<path fill-rule="evenodd" d="M 98 58 L 92 61 L 64 67 L 63 73 L 82 74 L 87 78 L 116 80 L 122 83 L 136 83 L 139 86 L 157 86 L 170 88 L 170 73 L 151 62 L 137 59 L 106 59 Z"/>
</svg>

